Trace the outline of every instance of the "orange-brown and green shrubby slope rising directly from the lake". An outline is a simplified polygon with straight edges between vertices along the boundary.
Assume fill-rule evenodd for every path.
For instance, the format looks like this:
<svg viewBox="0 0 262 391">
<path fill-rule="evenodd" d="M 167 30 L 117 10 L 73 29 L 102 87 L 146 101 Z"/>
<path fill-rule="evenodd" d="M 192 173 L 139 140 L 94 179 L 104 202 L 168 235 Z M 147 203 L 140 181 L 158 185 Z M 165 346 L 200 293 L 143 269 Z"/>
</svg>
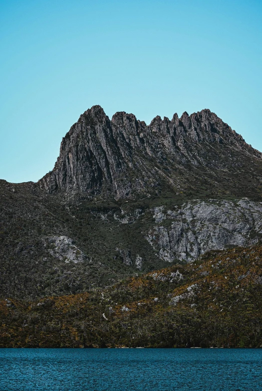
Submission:
<svg viewBox="0 0 262 391">
<path fill-rule="evenodd" d="M 106 289 L 3 299 L 0 346 L 259 347 L 261 259 L 261 246 L 211 251 Z"/>
</svg>

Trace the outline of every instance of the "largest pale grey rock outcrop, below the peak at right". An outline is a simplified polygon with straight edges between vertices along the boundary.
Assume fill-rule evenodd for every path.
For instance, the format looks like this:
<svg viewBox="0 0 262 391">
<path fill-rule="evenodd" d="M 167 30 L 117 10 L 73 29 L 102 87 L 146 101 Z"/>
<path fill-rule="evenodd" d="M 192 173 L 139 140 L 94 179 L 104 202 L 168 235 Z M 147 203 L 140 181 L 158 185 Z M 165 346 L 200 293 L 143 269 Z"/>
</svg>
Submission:
<svg viewBox="0 0 262 391">
<path fill-rule="evenodd" d="M 192 261 L 211 249 L 252 245 L 262 237 L 262 202 L 195 200 L 152 212 L 156 224 L 147 240 L 169 262 Z"/>
</svg>

